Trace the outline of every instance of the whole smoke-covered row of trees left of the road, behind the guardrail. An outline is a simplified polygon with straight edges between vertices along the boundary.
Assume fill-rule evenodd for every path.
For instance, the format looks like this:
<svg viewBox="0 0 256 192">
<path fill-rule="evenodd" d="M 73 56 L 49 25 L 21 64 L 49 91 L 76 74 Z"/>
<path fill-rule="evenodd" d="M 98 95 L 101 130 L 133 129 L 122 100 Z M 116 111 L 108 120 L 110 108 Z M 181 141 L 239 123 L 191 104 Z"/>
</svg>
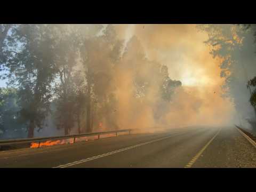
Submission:
<svg viewBox="0 0 256 192">
<path fill-rule="evenodd" d="M 0 33 L 2 138 L 154 126 L 181 86 L 113 25 L 2 24 Z"/>
</svg>

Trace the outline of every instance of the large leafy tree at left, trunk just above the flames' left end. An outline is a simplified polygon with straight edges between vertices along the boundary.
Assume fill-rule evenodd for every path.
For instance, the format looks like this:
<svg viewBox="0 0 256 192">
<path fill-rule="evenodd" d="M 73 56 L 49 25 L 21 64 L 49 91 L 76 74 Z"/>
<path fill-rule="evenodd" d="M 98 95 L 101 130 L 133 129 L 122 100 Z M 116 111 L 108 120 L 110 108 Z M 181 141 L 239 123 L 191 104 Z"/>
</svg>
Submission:
<svg viewBox="0 0 256 192">
<path fill-rule="evenodd" d="M 13 31 L 4 66 L 10 85 L 18 87 L 20 116 L 28 122 L 28 137 L 49 114 L 54 78 L 52 38 L 47 25 L 20 25 Z M 17 46 L 19 44 L 20 46 Z"/>
</svg>

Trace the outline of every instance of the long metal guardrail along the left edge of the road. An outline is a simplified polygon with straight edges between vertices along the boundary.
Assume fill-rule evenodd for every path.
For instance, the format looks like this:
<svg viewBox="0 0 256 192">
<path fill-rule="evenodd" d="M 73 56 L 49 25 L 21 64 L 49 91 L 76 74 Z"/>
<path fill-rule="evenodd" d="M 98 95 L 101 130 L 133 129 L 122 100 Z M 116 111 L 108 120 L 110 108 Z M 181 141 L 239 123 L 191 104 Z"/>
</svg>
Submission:
<svg viewBox="0 0 256 192">
<path fill-rule="evenodd" d="M 105 132 L 95 132 L 95 133 L 83 133 L 83 134 L 55 136 L 55 137 L 41 137 L 41 138 L 27 138 L 27 139 L 7 139 L 7 140 L 0 140 L 0 146 L 30 143 L 30 142 L 39 142 L 39 145 L 40 145 L 40 142 L 43 142 L 43 141 L 61 140 L 61 139 L 70 139 L 70 138 L 74 138 L 74 142 L 75 142 L 76 138 L 81 138 L 81 137 L 88 137 L 88 136 L 98 135 L 98 139 L 100 139 L 100 135 L 103 135 L 103 134 L 116 133 L 116 136 L 117 136 L 117 134 L 121 133 L 121 132 L 129 132 L 129 134 L 131 134 L 131 131 L 132 131 L 131 129 L 126 129 L 126 130 L 115 130 L 115 131 L 105 131 Z"/>
</svg>

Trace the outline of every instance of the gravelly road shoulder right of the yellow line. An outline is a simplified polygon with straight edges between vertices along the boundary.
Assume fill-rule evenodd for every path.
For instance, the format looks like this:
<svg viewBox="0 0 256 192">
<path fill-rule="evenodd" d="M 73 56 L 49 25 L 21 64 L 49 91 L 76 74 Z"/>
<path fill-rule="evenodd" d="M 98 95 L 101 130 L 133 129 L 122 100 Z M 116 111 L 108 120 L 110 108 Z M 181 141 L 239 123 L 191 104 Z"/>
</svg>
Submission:
<svg viewBox="0 0 256 192">
<path fill-rule="evenodd" d="M 256 148 L 235 127 L 223 127 L 193 167 L 256 167 Z"/>
</svg>

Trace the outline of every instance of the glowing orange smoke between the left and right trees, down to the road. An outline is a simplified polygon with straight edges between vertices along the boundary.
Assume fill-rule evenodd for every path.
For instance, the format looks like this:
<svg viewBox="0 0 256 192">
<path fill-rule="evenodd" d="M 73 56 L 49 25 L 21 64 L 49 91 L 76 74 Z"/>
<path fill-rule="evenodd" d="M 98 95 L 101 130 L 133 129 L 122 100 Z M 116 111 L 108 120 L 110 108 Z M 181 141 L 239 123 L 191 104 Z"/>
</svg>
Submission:
<svg viewBox="0 0 256 192">
<path fill-rule="evenodd" d="M 206 33 L 199 32 L 195 25 L 119 25 L 116 28 L 120 38 L 137 36 L 147 58 L 166 65 L 170 78 L 182 82 L 172 102 L 158 103 L 159 113 L 165 111 L 160 121 L 156 123 L 151 108 L 145 108 L 147 113 L 142 113 L 145 116 L 141 122 L 167 127 L 233 122 L 233 104 L 221 97 L 224 79 L 220 77 L 220 60 L 213 59 L 209 47 L 203 43 Z"/>
</svg>

